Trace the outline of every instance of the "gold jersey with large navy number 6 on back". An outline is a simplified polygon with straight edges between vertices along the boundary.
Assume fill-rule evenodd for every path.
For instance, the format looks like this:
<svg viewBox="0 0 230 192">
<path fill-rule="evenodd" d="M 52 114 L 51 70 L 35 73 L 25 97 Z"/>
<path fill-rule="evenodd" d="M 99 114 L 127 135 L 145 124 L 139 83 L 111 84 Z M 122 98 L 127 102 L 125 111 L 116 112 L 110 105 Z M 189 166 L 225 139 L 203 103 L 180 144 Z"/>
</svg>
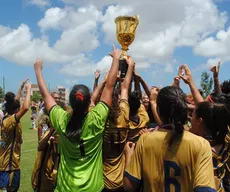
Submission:
<svg viewBox="0 0 230 192">
<path fill-rule="evenodd" d="M 181 140 L 167 144 L 172 131 L 146 133 L 137 142 L 125 176 L 148 192 L 214 192 L 210 144 L 184 131 Z"/>
</svg>

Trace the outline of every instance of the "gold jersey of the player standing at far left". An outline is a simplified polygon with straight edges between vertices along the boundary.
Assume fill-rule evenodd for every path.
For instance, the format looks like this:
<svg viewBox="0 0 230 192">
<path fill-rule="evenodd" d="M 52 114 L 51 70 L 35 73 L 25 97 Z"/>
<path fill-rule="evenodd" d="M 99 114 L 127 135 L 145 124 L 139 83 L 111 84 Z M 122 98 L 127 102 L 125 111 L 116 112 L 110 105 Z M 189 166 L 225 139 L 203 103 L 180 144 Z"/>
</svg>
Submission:
<svg viewBox="0 0 230 192">
<path fill-rule="evenodd" d="M 21 144 L 21 124 L 16 120 L 15 114 L 6 117 L 0 130 L 0 171 L 20 169 Z"/>
</svg>

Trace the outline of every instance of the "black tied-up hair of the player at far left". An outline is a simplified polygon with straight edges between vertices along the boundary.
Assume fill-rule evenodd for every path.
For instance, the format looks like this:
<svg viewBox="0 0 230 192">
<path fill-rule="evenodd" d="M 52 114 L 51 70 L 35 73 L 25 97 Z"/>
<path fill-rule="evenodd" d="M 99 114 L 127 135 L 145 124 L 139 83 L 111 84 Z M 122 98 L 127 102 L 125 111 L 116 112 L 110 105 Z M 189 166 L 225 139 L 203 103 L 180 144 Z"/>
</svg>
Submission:
<svg viewBox="0 0 230 192">
<path fill-rule="evenodd" d="M 16 110 L 20 108 L 20 102 L 18 100 L 15 100 L 14 93 L 12 92 L 6 93 L 5 100 L 6 100 L 6 104 L 5 104 L 6 112 L 9 115 L 14 114 Z"/>
</svg>

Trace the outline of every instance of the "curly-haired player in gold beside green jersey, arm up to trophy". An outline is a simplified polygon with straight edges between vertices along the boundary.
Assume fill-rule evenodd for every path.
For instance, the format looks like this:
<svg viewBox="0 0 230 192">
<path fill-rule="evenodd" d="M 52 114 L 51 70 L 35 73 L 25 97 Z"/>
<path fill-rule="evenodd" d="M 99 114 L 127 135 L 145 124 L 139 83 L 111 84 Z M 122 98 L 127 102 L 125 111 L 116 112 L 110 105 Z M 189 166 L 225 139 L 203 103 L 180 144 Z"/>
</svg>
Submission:
<svg viewBox="0 0 230 192">
<path fill-rule="evenodd" d="M 129 128 L 128 93 L 132 79 L 134 61 L 127 60 L 128 70 L 121 84 L 120 101 L 118 91 L 113 93 L 112 107 L 103 137 L 103 175 L 106 191 L 124 191 L 123 175 L 125 168 L 124 148 Z"/>
</svg>

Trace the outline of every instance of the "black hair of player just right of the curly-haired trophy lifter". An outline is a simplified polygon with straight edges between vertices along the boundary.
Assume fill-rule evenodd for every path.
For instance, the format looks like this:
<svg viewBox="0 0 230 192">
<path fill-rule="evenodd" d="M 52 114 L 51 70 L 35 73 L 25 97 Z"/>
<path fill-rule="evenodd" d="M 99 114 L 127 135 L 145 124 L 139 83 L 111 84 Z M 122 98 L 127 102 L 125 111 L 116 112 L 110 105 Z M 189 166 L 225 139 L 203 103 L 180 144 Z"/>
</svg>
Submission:
<svg viewBox="0 0 230 192">
<path fill-rule="evenodd" d="M 138 91 L 129 94 L 130 116 L 136 115 L 141 106 L 140 95 Z"/>
</svg>

